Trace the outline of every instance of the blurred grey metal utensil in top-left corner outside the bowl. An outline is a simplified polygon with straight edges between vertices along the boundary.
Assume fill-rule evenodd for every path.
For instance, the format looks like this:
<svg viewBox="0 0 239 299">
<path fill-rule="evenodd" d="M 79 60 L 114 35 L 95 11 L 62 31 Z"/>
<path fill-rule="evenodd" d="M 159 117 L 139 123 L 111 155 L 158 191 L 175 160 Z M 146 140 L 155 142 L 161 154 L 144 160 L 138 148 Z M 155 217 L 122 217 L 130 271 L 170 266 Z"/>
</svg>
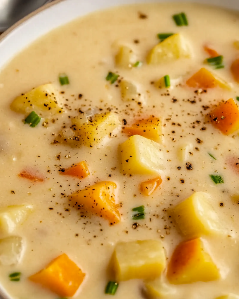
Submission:
<svg viewBox="0 0 239 299">
<path fill-rule="evenodd" d="M 0 32 L 52 0 L 0 0 Z"/>
</svg>

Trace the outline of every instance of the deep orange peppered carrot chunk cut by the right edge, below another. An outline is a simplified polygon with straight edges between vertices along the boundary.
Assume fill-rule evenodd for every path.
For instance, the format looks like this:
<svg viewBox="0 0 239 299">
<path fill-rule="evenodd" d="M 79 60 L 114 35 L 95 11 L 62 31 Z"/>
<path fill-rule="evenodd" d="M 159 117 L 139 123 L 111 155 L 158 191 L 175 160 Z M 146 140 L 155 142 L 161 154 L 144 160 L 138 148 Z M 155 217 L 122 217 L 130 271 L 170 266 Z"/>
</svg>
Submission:
<svg viewBox="0 0 239 299">
<path fill-rule="evenodd" d="M 209 118 L 224 135 L 229 135 L 239 129 L 238 106 L 233 99 L 221 103 L 209 114 Z"/>
</svg>

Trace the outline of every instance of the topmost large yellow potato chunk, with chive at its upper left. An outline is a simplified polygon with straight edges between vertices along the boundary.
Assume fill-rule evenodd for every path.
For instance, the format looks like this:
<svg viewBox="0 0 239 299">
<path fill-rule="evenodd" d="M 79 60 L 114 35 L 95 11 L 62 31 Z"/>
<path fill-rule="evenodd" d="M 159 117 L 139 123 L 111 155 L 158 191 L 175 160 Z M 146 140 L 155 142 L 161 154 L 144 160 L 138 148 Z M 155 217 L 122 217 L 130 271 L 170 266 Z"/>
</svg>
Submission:
<svg viewBox="0 0 239 299">
<path fill-rule="evenodd" d="M 148 64 L 173 62 L 179 58 L 190 58 L 191 51 L 184 37 L 177 33 L 156 45 L 148 54 Z"/>
</svg>

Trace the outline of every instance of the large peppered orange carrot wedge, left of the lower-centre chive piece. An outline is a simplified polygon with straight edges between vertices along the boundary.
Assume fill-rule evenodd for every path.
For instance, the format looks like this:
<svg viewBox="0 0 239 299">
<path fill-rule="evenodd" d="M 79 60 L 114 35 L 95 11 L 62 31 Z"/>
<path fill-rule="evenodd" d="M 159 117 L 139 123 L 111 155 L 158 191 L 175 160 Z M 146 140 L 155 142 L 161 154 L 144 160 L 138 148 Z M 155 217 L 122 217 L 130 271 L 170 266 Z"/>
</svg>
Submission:
<svg viewBox="0 0 239 299">
<path fill-rule="evenodd" d="M 69 196 L 76 207 L 78 205 L 94 215 L 107 219 L 110 224 L 120 221 L 118 205 L 115 203 L 117 185 L 111 181 L 102 181 Z"/>
</svg>

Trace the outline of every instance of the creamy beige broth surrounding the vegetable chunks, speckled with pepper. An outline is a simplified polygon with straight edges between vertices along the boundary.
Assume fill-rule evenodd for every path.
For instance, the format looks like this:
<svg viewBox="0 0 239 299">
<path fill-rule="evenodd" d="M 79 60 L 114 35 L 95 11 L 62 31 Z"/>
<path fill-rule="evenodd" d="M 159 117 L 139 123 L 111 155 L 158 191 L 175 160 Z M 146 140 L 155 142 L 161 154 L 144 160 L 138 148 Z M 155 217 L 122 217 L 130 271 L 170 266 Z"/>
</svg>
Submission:
<svg viewBox="0 0 239 299">
<path fill-rule="evenodd" d="M 181 11 L 187 14 L 189 26 L 176 27 L 172 21 L 171 16 Z M 139 12 L 147 18 L 139 18 Z M 223 237 L 203 236 L 222 279 L 175 286 L 177 292 L 173 298 L 214 299 L 223 294 L 239 294 L 238 206 L 231 199 L 238 191 L 238 174 L 227 165 L 228 157 L 238 158 L 238 134 L 222 135 L 205 122 L 212 105 L 239 95 L 238 85 L 229 71 L 238 55 L 233 47 L 238 38 L 238 25 L 238 14 L 198 4 L 119 7 L 91 14 L 50 32 L 19 53 L 1 71 L 1 206 L 28 204 L 34 207 L 33 213 L 13 233 L 24 238 L 21 262 L 15 266 L 1 266 L 1 282 L 13 298 L 58 298 L 27 277 L 62 253 L 86 273 L 75 297 L 106 298 L 105 286 L 112 280 L 108 264 L 115 244 L 161 239 L 166 257 L 170 258 L 175 246 L 185 237 L 179 233 L 167 210 L 196 191 L 212 195 L 213 206 L 229 231 L 228 236 Z M 164 32 L 182 33 L 190 44 L 192 58 L 147 65 L 145 57 L 157 44 L 157 33 Z M 212 45 L 224 56 L 225 68 L 216 71 L 212 68 L 212 71 L 233 84 L 231 91 L 214 88 L 196 94 L 195 89 L 186 87 L 185 81 L 203 67 L 203 60 L 208 57 L 203 50 L 204 44 Z M 143 66 L 130 70 L 117 68 L 114 57 L 120 45 L 131 47 Z M 145 104 L 123 102 L 120 88 L 105 80 L 108 71 L 118 71 L 120 77 L 137 82 L 145 96 Z M 67 86 L 59 85 L 58 75 L 62 72 L 69 77 Z M 171 78 L 180 77 L 181 86 L 166 91 L 151 84 L 165 74 Z M 51 117 L 47 128 L 42 125 L 30 128 L 22 122 L 24 115 L 10 110 L 10 103 L 16 96 L 46 83 L 53 83 L 59 92 L 65 92 L 60 94 L 65 112 Z M 80 99 L 79 94 L 82 94 Z M 70 126 L 68 116 L 77 115 L 79 108 L 88 114 L 99 112 L 99 108 L 102 112 L 110 108 L 117 112 L 122 127 L 123 119 L 129 125 L 145 116 L 159 117 L 165 157 L 160 189 L 146 197 L 140 193 L 139 184 L 155 175 L 123 176 L 119 144 L 128 136 L 120 128 L 98 147 L 52 144 L 63 123 Z M 206 130 L 201 130 L 203 126 Z M 180 146 L 189 143 L 193 145 L 192 170 L 186 169 L 177 153 Z M 60 159 L 57 158 L 59 153 Z M 83 160 L 87 161 L 91 173 L 87 178 L 79 180 L 60 173 L 61 168 Z M 44 182 L 20 178 L 18 174 L 26 167 L 39 171 Z M 224 184 L 215 185 L 209 177 L 213 173 L 223 176 Z M 117 183 L 117 202 L 122 203 L 119 208 L 121 222 L 113 226 L 90 213 L 81 217 L 81 211 L 68 200 L 76 190 L 104 180 Z M 133 229 L 135 221 L 131 218 L 131 209 L 140 205 L 145 206 L 146 217 L 137 221 L 140 226 Z M 8 275 L 15 271 L 22 272 L 19 282 L 9 280 Z M 140 280 L 120 282 L 115 298 L 143 298 L 142 287 Z"/>
</svg>

